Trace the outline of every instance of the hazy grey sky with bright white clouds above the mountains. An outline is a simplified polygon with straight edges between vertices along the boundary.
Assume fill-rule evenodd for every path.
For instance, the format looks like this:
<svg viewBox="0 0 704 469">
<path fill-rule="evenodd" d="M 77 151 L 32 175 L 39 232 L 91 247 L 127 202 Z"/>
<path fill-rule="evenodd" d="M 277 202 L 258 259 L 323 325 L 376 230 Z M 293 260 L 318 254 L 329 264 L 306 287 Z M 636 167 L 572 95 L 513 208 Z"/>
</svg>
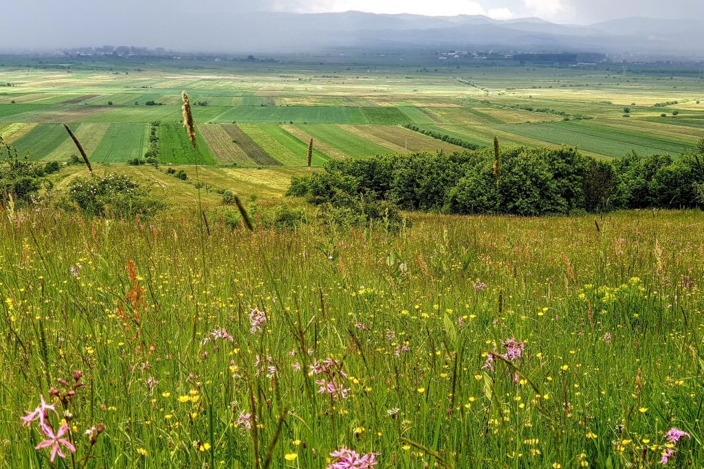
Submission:
<svg viewBox="0 0 704 469">
<path fill-rule="evenodd" d="M 704 0 L 0 0 L 0 49 L 96 44 L 163 45 L 180 50 L 275 39 L 277 31 L 242 20 L 245 11 L 538 16 L 590 24 L 615 18 L 704 18 Z M 191 37 L 185 34 L 189 31 Z M 282 34 L 285 34 L 282 32 Z M 270 38 L 265 38 L 265 36 Z M 284 38 L 285 39 L 285 38 Z M 272 42 L 273 44 L 273 42 Z"/>
</svg>

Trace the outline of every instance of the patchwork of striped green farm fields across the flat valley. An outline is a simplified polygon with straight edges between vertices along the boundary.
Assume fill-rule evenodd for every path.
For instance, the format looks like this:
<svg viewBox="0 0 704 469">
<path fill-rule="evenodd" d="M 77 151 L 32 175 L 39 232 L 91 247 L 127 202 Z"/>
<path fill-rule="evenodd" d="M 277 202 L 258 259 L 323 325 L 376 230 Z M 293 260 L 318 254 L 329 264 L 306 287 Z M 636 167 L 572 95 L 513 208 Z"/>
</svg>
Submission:
<svg viewBox="0 0 704 469">
<path fill-rule="evenodd" d="M 13 67 L 8 60 L 0 74 L 13 86 L 0 92 L 0 122 L 15 126 L 5 132 L 17 140 L 25 137 L 19 124 L 108 124 L 105 141 L 96 146 L 101 133 L 91 134 L 89 146 L 99 161 L 124 162 L 127 155 L 136 158 L 146 150 L 141 137 L 128 142 L 141 135 L 130 126 L 180 122 L 180 91 L 185 89 L 196 124 L 242 124 L 256 137 L 232 127 L 226 133 L 237 135 L 228 142 L 219 127 L 208 127 L 208 138 L 199 138 L 201 162 L 243 167 L 301 165 L 301 145 L 310 137 L 318 141 L 314 165 L 389 151 L 458 150 L 412 135 L 400 129 L 404 124 L 479 146 L 496 135 L 507 145 L 576 145 L 599 158 L 631 150 L 677 156 L 693 148 L 704 125 L 704 80 L 681 65 L 634 66 L 622 75 L 608 64 L 530 68 L 508 61 L 451 68 L 429 58 L 406 59 L 405 65 L 379 59 L 383 74 L 362 65 L 370 58 L 356 65 L 321 58 L 315 64 L 165 60 L 101 67 L 77 60 L 70 73 L 63 63 L 52 68 L 27 60 Z M 23 146 L 32 147 L 32 158 L 60 160 L 70 151 L 63 145 L 65 136 L 43 128 L 32 129 L 31 139 L 40 135 L 54 141 L 30 145 L 31 139 L 24 139 Z M 19 133 L 12 137 L 10 131 Z M 233 142 L 238 139 L 242 143 Z M 183 143 L 175 135 L 160 141 L 163 162 L 194 162 L 174 153 Z"/>
</svg>

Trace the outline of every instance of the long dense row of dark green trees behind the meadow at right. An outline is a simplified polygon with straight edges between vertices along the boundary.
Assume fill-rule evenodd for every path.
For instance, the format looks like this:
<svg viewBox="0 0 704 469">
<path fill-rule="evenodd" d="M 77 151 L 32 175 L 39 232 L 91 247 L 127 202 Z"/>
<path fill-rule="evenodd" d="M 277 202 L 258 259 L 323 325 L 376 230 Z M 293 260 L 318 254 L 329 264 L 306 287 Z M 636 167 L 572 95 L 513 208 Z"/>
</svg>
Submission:
<svg viewBox="0 0 704 469">
<path fill-rule="evenodd" d="M 309 203 L 383 200 L 404 210 L 451 214 L 546 215 L 704 202 L 700 150 L 680 158 L 631 153 L 612 161 L 576 148 L 502 149 L 498 181 L 487 148 L 448 155 L 415 153 L 328 162 L 325 171 L 294 178 L 288 195 Z"/>
</svg>

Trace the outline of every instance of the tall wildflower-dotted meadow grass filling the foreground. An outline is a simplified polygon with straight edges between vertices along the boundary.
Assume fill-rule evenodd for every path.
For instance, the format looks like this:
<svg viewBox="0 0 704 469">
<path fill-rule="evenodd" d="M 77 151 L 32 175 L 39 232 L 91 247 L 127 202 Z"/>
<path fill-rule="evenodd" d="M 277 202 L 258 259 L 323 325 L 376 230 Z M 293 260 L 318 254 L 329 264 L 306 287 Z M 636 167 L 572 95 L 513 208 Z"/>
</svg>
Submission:
<svg viewBox="0 0 704 469">
<path fill-rule="evenodd" d="M 704 460 L 699 213 L 199 219 L 0 217 L 2 467 L 50 466 L 20 417 L 74 370 L 76 467 L 656 467 L 672 427 Z"/>
</svg>

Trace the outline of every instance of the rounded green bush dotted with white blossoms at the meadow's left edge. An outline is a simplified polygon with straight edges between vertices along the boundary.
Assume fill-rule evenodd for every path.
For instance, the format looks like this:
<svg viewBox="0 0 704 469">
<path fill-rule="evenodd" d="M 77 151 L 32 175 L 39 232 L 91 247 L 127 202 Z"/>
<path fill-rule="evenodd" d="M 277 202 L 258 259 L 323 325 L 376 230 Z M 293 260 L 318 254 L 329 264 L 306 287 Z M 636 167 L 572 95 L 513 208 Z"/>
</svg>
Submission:
<svg viewBox="0 0 704 469">
<path fill-rule="evenodd" d="M 78 177 L 69 185 L 68 201 L 99 217 L 108 213 L 120 217 L 151 215 L 165 206 L 125 174 Z"/>
</svg>

